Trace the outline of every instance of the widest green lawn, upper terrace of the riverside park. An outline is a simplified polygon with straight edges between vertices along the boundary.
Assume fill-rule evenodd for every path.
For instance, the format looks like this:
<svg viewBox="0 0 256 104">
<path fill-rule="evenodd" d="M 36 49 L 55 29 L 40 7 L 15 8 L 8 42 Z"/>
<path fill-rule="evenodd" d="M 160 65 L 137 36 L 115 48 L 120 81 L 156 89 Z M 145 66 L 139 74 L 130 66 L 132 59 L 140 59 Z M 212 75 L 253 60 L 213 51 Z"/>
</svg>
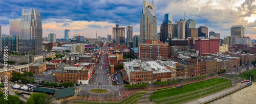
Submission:
<svg viewBox="0 0 256 104">
<path fill-rule="evenodd" d="M 200 82 L 190 83 L 183 85 L 183 88 L 171 88 L 155 91 L 153 95 L 150 96 L 150 99 L 159 99 L 169 96 L 175 96 L 183 93 L 193 92 L 196 90 L 204 89 L 207 87 L 215 86 L 224 82 L 227 82 L 227 79 L 213 78 L 209 80 L 204 80 Z"/>
</svg>

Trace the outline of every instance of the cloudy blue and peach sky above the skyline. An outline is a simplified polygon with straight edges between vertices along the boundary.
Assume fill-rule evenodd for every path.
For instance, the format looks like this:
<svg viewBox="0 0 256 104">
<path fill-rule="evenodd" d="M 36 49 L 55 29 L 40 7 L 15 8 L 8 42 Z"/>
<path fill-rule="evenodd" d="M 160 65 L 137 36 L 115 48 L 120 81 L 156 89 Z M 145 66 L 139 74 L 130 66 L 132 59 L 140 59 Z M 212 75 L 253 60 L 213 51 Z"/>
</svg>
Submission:
<svg viewBox="0 0 256 104">
<path fill-rule="evenodd" d="M 152 0 L 146 0 L 152 3 Z M 209 31 L 221 33 L 221 38 L 230 36 L 232 25 L 244 25 L 245 35 L 256 39 L 255 0 L 155 0 L 158 32 L 164 14 L 173 14 L 173 21 L 193 19 L 196 26 L 207 26 Z M 139 34 L 142 0 L 9 0 L 0 1 L 0 25 L 2 34 L 9 34 L 9 19 L 20 18 L 22 9 L 40 11 L 43 37 L 56 33 L 64 38 L 64 30 L 88 38 L 106 37 L 112 34 L 114 21 L 122 20 L 120 26 L 133 26 L 133 34 Z"/>
</svg>

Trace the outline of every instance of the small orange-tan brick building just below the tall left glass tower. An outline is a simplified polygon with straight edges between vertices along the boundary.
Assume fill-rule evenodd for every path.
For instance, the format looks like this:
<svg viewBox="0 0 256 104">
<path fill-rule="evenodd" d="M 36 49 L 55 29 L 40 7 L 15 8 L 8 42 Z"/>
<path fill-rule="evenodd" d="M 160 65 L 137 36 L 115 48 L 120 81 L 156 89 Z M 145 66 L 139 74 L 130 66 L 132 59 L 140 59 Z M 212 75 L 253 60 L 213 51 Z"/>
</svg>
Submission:
<svg viewBox="0 0 256 104">
<path fill-rule="evenodd" d="M 45 62 L 38 62 L 35 64 L 32 64 L 30 66 L 31 68 L 31 72 L 33 72 L 34 74 L 40 74 L 41 72 L 44 72 L 46 70 L 46 63 Z"/>
</svg>

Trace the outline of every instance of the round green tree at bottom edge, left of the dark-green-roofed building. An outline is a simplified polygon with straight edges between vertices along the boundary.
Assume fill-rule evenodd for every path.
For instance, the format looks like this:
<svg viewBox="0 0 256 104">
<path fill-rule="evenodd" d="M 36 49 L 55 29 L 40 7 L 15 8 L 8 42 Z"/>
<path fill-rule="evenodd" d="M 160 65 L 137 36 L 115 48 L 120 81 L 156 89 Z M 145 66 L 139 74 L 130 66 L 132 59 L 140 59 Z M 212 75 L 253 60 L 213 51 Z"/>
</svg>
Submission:
<svg viewBox="0 0 256 104">
<path fill-rule="evenodd" d="M 26 101 L 26 104 L 49 104 L 52 101 L 52 97 L 48 96 L 46 93 L 38 93 L 34 92 L 33 94 L 30 95 L 28 100 Z"/>
</svg>

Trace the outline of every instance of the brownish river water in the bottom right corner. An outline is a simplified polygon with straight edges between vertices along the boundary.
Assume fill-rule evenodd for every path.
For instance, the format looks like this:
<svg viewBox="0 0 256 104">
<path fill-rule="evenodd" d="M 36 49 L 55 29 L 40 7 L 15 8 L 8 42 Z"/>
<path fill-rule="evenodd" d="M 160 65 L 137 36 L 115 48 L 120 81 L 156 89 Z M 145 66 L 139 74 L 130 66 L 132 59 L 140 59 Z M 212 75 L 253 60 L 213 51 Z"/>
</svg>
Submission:
<svg viewBox="0 0 256 104">
<path fill-rule="evenodd" d="M 256 103 L 256 79 L 252 80 L 252 85 L 243 88 L 237 92 L 222 97 L 221 99 L 210 102 L 210 104 L 241 104 Z"/>
</svg>

